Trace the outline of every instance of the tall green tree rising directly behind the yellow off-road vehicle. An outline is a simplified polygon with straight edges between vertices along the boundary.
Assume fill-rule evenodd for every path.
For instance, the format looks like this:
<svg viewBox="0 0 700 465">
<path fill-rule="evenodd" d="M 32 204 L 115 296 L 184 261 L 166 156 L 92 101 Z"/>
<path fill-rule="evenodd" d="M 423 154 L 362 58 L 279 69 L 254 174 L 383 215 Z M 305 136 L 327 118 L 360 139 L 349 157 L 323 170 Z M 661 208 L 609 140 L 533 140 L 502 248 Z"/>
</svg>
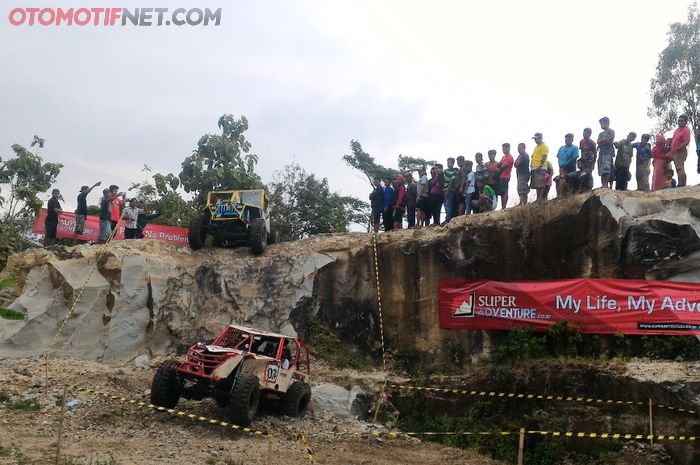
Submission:
<svg viewBox="0 0 700 465">
<path fill-rule="evenodd" d="M 223 115 L 218 126 L 221 134 L 204 134 L 197 149 L 182 162 L 180 184 L 197 205 L 204 203 L 210 190 L 262 187 L 255 173 L 258 156 L 250 153 L 251 144 L 243 135 L 248 129 L 246 117 Z"/>
</svg>

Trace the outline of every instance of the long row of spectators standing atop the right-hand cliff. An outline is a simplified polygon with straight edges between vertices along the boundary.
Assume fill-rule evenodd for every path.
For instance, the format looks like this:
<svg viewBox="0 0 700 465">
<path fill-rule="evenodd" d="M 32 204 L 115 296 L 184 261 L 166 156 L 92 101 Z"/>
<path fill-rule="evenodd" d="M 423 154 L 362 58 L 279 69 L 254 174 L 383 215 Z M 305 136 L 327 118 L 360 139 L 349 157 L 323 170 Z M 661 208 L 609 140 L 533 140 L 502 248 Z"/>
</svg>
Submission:
<svg viewBox="0 0 700 465">
<path fill-rule="evenodd" d="M 375 232 L 380 226 L 384 231 L 401 229 L 404 215 L 409 228 L 444 225 L 455 216 L 496 210 L 499 199 L 501 209 L 505 209 L 513 176 L 519 205 L 528 202 L 530 191 L 535 192 L 536 202 L 547 200 L 552 185 L 557 196 L 590 191 L 595 169 L 603 187 L 612 189 L 614 185 L 617 190 L 627 190 L 633 160 L 639 191 L 686 185 L 685 162 L 691 141 L 686 115 L 678 117 L 678 128 L 672 137 L 666 139 L 663 134 L 657 134 L 653 141 L 650 134 L 642 134 L 637 142 L 635 132 L 616 140 L 610 118 L 604 116 L 599 123 L 601 132 L 595 140 L 590 128 L 583 130 L 578 146 L 574 145 L 573 134 L 564 136 L 564 145 L 556 153 L 556 172 L 549 147 L 537 132 L 532 137 L 535 146 L 531 155 L 522 142 L 515 155 L 511 154 L 510 144 L 504 143 L 500 160 L 496 160 L 496 150 L 489 150 L 486 162 L 481 152 L 474 155 L 473 161 L 463 156 L 449 157 L 447 168 L 441 163 L 430 168 L 430 177 L 426 167 L 418 168 L 417 179 L 413 172 L 398 173 L 393 179 L 375 177 L 374 190 L 369 196 L 372 228 Z M 694 137 L 700 173 L 700 127 L 695 127 Z M 676 173 L 678 181 L 674 178 Z M 441 221 L 443 209 L 445 217 Z"/>
</svg>

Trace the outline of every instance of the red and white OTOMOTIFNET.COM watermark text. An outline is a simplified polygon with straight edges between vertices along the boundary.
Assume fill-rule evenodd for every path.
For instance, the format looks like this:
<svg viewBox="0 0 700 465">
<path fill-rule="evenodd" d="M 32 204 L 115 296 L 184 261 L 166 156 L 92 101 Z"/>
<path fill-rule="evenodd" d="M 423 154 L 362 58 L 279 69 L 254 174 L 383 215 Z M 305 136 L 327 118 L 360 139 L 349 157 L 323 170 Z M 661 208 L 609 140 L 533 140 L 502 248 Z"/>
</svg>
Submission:
<svg viewBox="0 0 700 465">
<path fill-rule="evenodd" d="M 13 26 L 218 26 L 221 8 L 12 8 Z"/>
</svg>

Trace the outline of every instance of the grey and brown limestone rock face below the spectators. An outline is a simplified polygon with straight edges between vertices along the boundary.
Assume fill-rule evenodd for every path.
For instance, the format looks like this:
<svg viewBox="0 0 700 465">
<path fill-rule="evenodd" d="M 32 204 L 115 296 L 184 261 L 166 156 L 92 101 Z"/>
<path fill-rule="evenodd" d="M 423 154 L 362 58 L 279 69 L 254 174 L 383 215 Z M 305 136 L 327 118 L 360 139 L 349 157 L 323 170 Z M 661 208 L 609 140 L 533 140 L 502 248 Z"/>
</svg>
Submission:
<svg viewBox="0 0 700 465">
<path fill-rule="evenodd" d="M 439 328 L 438 279 L 700 282 L 700 188 L 599 189 L 459 217 L 380 234 L 377 255 L 387 351 L 440 363 L 457 348 L 475 359 L 489 334 Z M 19 278 L 9 306 L 27 316 L 0 320 L 0 354 L 42 352 L 68 313 L 54 350 L 90 359 L 182 350 L 228 323 L 307 336 L 311 316 L 379 354 L 374 271 L 371 235 L 360 233 L 277 244 L 260 257 L 155 241 L 29 250 L 2 273 Z"/>
</svg>

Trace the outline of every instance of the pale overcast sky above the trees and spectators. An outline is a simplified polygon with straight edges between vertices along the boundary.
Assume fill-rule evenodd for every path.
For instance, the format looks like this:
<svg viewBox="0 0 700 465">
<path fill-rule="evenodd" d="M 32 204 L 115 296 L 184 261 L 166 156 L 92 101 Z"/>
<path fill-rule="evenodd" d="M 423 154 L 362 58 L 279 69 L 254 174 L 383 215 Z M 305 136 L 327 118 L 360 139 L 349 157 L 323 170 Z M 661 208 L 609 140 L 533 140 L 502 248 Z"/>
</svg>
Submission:
<svg viewBox="0 0 700 465">
<path fill-rule="evenodd" d="M 351 139 L 395 166 L 398 154 L 473 159 L 503 142 L 531 152 L 534 132 L 556 154 L 565 133 L 597 134 L 604 115 L 618 139 L 648 132 L 649 81 L 688 1 L 172 5 L 221 7 L 218 27 L 15 27 L 16 6 L 105 5 L 0 6 L 0 156 L 45 138 L 41 155 L 65 165 L 57 187 L 74 208 L 81 184 L 125 188 L 144 178 L 144 163 L 179 173 L 224 113 L 248 118 L 264 181 L 294 161 L 363 199 L 369 187 L 341 160 Z"/>
</svg>

